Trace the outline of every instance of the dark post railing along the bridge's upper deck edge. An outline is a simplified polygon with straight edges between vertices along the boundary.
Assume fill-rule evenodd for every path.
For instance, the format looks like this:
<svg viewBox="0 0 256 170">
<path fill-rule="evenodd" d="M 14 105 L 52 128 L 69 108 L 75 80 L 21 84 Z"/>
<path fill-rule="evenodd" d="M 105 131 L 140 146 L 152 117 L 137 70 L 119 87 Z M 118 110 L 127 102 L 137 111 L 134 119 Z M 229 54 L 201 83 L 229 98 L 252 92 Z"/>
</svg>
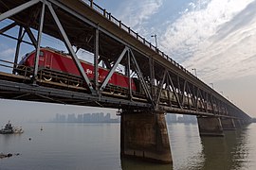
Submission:
<svg viewBox="0 0 256 170">
<path fill-rule="evenodd" d="M 134 38 L 136 38 L 139 42 L 144 43 L 146 46 L 154 50 L 158 55 L 162 56 L 163 58 L 169 60 L 172 64 L 174 64 L 176 67 L 178 67 L 183 72 L 187 73 L 190 76 L 193 76 L 191 72 L 189 72 L 187 69 L 185 69 L 183 66 L 181 66 L 179 63 L 177 63 L 174 59 L 171 59 L 168 55 L 166 55 L 163 51 L 159 50 L 155 45 L 153 45 L 151 42 L 148 42 L 145 38 L 141 37 L 137 34 L 136 31 L 131 29 L 129 26 L 124 25 L 119 19 L 114 17 L 110 12 L 106 11 L 105 8 L 101 8 L 97 4 L 93 2 L 93 0 L 82 0 L 86 5 L 96 10 L 98 13 L 100 13 L 102 16 L 107 18 L 109 21 L 114 23 L 115 25 L 119 26 L 121 29 L 128 32 L 130 35 L 132 35 Z M 196 76 L 193 76 L 197 78 Z M 197 78 L 198 79 L 198 78 Z"/>
</svg>

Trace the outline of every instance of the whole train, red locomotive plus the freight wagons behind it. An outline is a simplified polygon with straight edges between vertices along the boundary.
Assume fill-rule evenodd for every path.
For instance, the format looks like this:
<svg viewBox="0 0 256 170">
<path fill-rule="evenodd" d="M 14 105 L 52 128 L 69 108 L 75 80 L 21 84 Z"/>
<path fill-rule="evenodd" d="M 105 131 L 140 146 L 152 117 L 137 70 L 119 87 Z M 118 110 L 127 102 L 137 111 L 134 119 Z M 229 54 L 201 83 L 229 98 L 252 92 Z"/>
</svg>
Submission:
<svg viewBox="0 0 256 170">
<path fill-rule="evenodd" d="M 20 60 L 16 68 L 16 73 L 18 75 L 33 76 L 35 53 L 35 51 L 27 53 L 27 55 Z M 80 59 L 80 63 L 90 82 L 94 85 L 94 65 L 82 59 Z M 100 85 L 108 73 L 108 69 L 99 67 Z M 38 76 L 40 76 L 40 80 L 45 80 L 46 82 L 59 82 L 66 85 L 86 88 L 74 60 L 63 51 L 50 47 L 43 47 L 40 49 Z M 158 91 L 156 86 L 152 88 L 155 89 L 155 92 Z M 137 77 L 131 78 L 131 90 L 133 96 L 136 96 L 136 98 L 146 99 L 146 95 L 143 92 L 141 83 L 139 83 Z M 105 92 L 127 95 L 129 93 L 129 77 L 115 72 L 109 79 Z M 181 93 L 178 93 L 178 95 L 179 98 L 182 98 Z M 173 106 L 179 106 L 175 99 L 174 92 L 163 89 L 160 94 L 159 104 L 169 106 L 171 101 Z M 191 108 L 195 106 L 191 96 L 188 94 L 185 95 L 182 103 L 183 108 Z M 211 106 L 210 103 L 207 102 L 206 106 L 203 103 L 205 103 L 205 101 L 202 101 L 202 99 L 197 100 L 198 110 L 217 110 L 215 104 Z M 193 109 L 195 110 L 195 108 Z"/>
</svg>

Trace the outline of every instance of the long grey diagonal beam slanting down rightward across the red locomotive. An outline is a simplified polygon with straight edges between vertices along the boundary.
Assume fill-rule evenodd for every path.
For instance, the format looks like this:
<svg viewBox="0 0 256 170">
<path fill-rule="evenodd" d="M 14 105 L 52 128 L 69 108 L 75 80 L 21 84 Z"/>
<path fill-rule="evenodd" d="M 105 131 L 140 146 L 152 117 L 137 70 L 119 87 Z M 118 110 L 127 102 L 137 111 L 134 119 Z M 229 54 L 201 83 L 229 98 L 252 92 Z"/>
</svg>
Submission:
<svg viewBox="0 0 256 170">
<path fill-rule="evenodd" d="M 69 51 L 69 53 L 71 54 L 71 57 L 72 59 L 74 60 L 76 66 L 78 67 L 78 70 L 83 78 L 83 80 L 86 82 L 86 86 L 89 88 L 89 91 L 91 93 L 95 93 L 95 90 L 93 89 L 92 87 L 92 84 L 90 83 L 90 79 L 88 78 L 88 76 L 85 74 L 83 68 L 82 68 L 82 65 L 81 65 L 81 62 L 80 60 L 77 58 L 77 55 L 74 51 L 74 49 L 72 48 L 72 45 L 71 45 L 71 42 L 68 40 L 68 37 L 64 31 L 64 27 L 62 26 L 57 14 L 55 13 L 55 10 L 52 8 L 51 4 L 47 3 L 47 7 L 49 8 L 49 11 L 56 23 L 56 25 L 58 26 L 59 28 L 59 31 L 61 33 L 61 35 L 63 36 L 64 38 L 64 43 Z"/>
</svg>

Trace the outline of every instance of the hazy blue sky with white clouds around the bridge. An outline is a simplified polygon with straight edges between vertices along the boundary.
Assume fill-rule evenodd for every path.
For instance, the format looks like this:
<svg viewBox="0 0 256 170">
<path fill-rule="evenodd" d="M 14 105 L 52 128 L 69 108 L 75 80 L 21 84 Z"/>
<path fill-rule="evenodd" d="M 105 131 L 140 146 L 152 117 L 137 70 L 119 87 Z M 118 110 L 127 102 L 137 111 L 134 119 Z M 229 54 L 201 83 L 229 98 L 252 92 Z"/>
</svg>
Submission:
<svg viewBox="0 0 256 170">
<path fill-rule="evenodd" d="M 256 1 L 95 0 L 230 101 L 256 117 Z M 4 21 L 0 26 L 5 26 Z M 44 38 L 43 42 L 47 42 Z M 52 42 L 52 41 L 51 41 Z M 16 42 L 0 37 L 0 58 L 13 55 Z M 43 44 L 44 45 L 44 44 Z M 56 48 L 63 48 L 55 41 Z M 21 55 L 32 49 L 23 44 Z M 13 58 L 13 57 L 12 57 Z M 11 58 L 11 59 L 12 59 Z M 87 107 L 0 100 L 1 121 L 53 117 L 55 113 L 101 111 Z M 28 113 L 25 113 L 27 112 Z M 110 110 L 115 112 L 115 110 Z"/>
</svg>

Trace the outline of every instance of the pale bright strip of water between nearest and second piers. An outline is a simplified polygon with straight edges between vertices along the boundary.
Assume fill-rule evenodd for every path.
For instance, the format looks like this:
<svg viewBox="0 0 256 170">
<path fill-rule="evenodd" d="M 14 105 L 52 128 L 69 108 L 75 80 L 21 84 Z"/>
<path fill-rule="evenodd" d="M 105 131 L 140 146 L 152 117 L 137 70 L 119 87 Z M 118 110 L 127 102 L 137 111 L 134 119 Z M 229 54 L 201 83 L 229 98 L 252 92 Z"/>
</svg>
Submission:
<svg viewBox="0 0 256 170">
<path fill-rule="evenodd" d="M 201 169 L 204 162 L 197 124 L 169 124 L 174 169 Z"/>
</svg>

